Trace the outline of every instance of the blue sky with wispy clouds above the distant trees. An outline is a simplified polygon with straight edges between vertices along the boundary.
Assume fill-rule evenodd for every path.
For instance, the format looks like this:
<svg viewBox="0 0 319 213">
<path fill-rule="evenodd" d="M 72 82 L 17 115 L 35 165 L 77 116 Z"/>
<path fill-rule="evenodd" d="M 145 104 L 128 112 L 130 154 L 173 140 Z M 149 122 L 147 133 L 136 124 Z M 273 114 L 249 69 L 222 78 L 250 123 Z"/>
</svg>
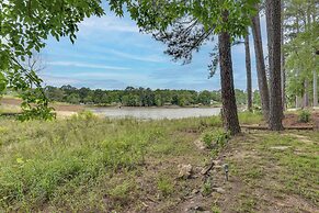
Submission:
<svg viewBox="0 0 319 213">
<path fill-rule="evenodd" d="M 264 31 L 264 20 L 262 19 Z M 45 85 L 71 85 L 77 88 L 125 89 L 127 86 L 151 89 L 217 90 L 219 72 L 208 79 L 207 65 L 213 44 L 195 53 L 189 65 L 174 63 L 164 55 L 166 46 L 151 35 L 139 33 L 129 19 L 107 12 L 90 18 L 79 25 L 75 44 L 68 38 L 47 41 L 42 53 Z M 264 33 L 263 33 L 264 35 Z M 264 44 L 265 45 L 265 44 Z M 257 89 L 253 44 L 251 41 L 253 88 Z M 243 45 L 232 48 L 235 86 L 246 89 Z"/>
</svg>

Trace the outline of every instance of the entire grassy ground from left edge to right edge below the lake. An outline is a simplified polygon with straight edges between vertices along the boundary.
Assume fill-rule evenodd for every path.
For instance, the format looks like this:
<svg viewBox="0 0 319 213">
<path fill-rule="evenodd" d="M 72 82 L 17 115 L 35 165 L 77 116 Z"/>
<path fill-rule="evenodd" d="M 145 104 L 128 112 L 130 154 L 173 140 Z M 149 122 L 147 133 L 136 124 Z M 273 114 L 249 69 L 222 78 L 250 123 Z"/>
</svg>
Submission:
<svg viewBox="0 0 319 213">
<path fill-rule="evenodd" d="M 52 122 L 0 117 L 0 212 L 183 212 L 193 198 L 212 212 L 318 209 L 318 132 L 229 141 L 218 116 L 138 121 L 81 112 Z M 228 182 L 221 167 L 201 176 L 216 158 L 229 165 Z M 192 178 L 179 179 L 179 166 L 189 164 Z"/>
</svg>

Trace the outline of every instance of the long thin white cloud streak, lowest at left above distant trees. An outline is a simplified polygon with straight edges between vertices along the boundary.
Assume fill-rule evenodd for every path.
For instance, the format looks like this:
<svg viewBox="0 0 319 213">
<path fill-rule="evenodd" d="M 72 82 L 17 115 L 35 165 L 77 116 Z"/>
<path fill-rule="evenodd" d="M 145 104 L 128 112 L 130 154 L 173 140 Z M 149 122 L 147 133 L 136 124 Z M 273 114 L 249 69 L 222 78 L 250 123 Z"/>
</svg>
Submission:
<svg viewBox="0 0 319 213">
<path fill-rule="evenodd" d="M 128 67 L 119 67 L 119 66 L 105 66 L 105 65 L 92 65 L 88 63 L 79 63 L 79 61 L 50 61 L 47 65 L 52 66 L 65 66 L 65 67 L 83 67 L 83 68 L 94 68 L 94 69 L 113 69 L 113 70 L 128 70 Z"/>
</svg>

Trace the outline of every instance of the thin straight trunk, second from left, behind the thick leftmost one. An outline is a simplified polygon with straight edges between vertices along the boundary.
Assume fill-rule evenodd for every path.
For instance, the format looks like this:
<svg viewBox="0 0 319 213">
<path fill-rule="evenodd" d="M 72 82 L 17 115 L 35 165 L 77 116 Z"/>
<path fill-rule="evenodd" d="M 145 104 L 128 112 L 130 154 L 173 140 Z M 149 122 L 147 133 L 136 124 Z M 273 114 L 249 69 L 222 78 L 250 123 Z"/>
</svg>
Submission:
<svg viewBox="0 0 319 213">
<path fill-rule="evenodd" d="M 246 74 L 247 74 L 247 110 L 252 111 L 252 82 L 251 82 L 251 58 L 249 46 L 249 34 L 244 37 L 246 49 Z"/>
</svg>

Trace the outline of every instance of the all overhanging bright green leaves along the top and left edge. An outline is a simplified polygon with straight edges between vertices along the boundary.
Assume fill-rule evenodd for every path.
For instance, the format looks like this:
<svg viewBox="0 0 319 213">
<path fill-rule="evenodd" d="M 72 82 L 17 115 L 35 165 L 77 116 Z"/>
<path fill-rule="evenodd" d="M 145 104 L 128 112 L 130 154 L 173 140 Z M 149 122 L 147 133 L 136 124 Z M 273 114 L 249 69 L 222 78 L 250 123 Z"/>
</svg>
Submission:
<svg viewBox="0 0 319 213">
<path fill-rule="evenodd" d="M 146 31 L 164 31 L 185 16 L 196 20 L 214 34 L 228 32 L 231 37 L 246 33 L 258 0 L 107 0 L 112 11 L 124 15 L 127 10 L 137 25 Z M 101 0 L 4 0 L 0 3 L 0 89 L 10 87 L 25 91 L 22 98 L 23 119 L 33 114 L 43 119 L 52 116 L 47 107 L 42 80 L 34 70 L 20 61 L 39 52 L 45 41 L 54 36 L 77 38 L 78 23 L 91 15 L 104 14 Z M 227 22 L 221 14 L 228 11 Z M 31 90 L 33 86 L 36 89 Z M 34 104 L 35 105 L 34 105 Z"/>
</svg>

